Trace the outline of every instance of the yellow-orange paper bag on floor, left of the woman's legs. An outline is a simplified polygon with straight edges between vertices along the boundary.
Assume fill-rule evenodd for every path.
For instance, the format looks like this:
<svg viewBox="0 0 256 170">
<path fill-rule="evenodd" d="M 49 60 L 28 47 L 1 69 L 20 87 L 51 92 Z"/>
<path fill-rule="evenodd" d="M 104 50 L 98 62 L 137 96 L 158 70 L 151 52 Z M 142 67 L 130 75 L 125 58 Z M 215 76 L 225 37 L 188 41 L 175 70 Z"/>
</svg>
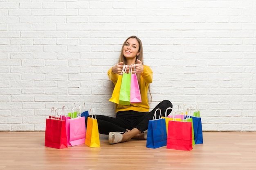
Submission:
<svg viewBox="0 0 256 170">
<path fill-rule="evenodd" d="M 89 147 L 100 147 L 98 122 L 93 108 L 90 109 L 87 119 L 85 144 Z"/>
</svg>

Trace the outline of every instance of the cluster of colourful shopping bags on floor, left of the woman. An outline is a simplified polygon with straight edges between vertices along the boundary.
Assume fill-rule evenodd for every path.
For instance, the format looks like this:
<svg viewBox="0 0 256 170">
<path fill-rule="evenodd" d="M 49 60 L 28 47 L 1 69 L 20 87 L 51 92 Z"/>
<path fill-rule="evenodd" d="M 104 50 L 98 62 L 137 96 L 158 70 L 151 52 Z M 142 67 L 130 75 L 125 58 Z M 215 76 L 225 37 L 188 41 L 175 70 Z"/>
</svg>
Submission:
<svg viewBox="0 0 256 170">
<path fill-rule="evenodd" d="M 88 121 L 87 127 L 85 126 L 85 118 Z M 94 109 L 93 113 L 90 109 L 89 114 L 89 111 L 74 107 L 68 113 L 65 106 L 62 110 L 53 107 L 51 115 L 46 119 L 45 146 L 62 149 L 80 144 L 86 144 L 89 147 L 100 147 L 99 130 Z"/>
</svg>

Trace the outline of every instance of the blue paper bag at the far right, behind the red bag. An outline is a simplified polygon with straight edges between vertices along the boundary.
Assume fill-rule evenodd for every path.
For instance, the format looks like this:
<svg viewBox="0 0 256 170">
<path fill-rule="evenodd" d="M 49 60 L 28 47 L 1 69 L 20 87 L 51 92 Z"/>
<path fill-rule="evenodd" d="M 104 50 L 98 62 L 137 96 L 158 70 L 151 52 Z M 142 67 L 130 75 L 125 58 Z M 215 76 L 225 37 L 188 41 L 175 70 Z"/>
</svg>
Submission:
<svg viewBox="0 0 256 170">
<path fill-rule="evenodd" d="M 193 107 L 189 107 L 189 112 L 191 108 Z M 193 116 L 191 116 L 191 118 L 193 119 L 195 144 L 202 144 L 203 143 L 202 121 L 200 118 L 200 114 L 198 114 L 198 111 L 196 109 L 195 109 L 195 112 L 193 113 Z"/>
</svg>

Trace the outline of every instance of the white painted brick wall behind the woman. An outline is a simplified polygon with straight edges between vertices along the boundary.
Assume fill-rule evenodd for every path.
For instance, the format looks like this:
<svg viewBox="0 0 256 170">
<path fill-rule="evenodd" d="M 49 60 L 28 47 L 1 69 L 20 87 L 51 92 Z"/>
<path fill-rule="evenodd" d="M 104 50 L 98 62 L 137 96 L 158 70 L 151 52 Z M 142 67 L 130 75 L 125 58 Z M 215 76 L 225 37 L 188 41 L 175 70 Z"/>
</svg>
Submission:
<svg viewBox="0 0 256 170">
<path fill-rule="evenodd" d="M 43 131 L 73 102 L 113 116 L 107 71 L 130 35 L 151 108 L 198 102 L 204 131 L 256 131 L 255 0 L 2 0 L 0 131 Z"/>
</svg>

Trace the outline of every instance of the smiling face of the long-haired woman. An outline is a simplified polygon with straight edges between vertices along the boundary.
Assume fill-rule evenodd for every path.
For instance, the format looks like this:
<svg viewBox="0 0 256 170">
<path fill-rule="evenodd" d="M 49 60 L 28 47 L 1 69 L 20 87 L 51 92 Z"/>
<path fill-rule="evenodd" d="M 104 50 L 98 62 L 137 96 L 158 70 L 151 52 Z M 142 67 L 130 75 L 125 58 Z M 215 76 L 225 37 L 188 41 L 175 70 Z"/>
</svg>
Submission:
<svg viewBox="0 0 256 170">
<path fill-rule="evenodd" d="M 139 55 L 139 43 L 137 39 L 130 38 L 126 41 L 123 48 L 124 57 L 133 59 Z"/>
</svg>

